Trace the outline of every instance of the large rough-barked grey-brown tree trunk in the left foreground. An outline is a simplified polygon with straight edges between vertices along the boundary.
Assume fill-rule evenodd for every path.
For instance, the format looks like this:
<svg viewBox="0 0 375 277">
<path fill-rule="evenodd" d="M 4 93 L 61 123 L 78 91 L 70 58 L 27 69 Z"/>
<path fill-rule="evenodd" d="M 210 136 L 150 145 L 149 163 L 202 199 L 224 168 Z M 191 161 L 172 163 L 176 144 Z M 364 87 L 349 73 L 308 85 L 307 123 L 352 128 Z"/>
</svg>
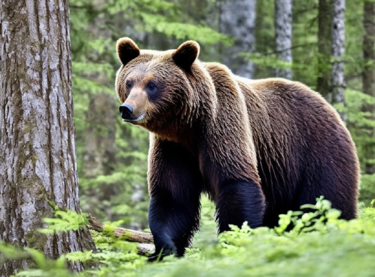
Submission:
<svg viewBox="0 0 375 277">
<path fill-rule="evenodd" d="M 37 231 L 49 201 L 80 212 L 68 1 L 2 0 L 0 20 L 0 240 L 49 258 L 95 249 L 88 230 Z M 0 276 L 30 266 L 9 260 Z"/>
</svg>

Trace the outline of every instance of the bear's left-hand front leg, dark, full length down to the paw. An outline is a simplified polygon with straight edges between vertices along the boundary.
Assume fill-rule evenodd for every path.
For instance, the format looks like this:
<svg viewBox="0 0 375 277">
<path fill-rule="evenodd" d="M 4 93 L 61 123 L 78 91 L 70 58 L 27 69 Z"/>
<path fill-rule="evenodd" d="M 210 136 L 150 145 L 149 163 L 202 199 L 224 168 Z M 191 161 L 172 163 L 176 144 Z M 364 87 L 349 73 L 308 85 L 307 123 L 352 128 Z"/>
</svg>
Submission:
<svg viewBox="0 0 375 277">
<path fill-rule="evenodd" d="M 151 138 L 148 223 L 159 255 L 183 256 L 199 228 L 202 177 L 198 161 L 180 144 Z"/>
</svg>

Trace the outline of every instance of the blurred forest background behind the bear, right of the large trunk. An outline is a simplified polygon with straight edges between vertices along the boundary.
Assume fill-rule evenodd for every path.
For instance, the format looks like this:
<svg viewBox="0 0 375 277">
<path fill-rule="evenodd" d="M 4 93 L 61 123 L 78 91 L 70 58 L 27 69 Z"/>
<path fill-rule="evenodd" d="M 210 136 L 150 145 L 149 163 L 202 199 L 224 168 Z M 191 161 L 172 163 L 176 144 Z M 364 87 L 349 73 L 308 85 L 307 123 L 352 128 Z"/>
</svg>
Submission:
<svg viewBox="0 0 375 277">
<path fill-rule="evenodd" d="M 121 37 L 155 50 L 196 40 L 203 61 L 222 62 L 253 79 L 289 78 L 320 92 L 354 138 L 360 200 L 368 206 L 375 198 L 375 2 L 346 1 L 345 14 L 340 3 L 345 1 L 70 0 L 82 210 L 100 220 L 122 219 L 132 229 L 147 227 L 148 133 L 120 120 L 114 89 Z"/>
</svg>

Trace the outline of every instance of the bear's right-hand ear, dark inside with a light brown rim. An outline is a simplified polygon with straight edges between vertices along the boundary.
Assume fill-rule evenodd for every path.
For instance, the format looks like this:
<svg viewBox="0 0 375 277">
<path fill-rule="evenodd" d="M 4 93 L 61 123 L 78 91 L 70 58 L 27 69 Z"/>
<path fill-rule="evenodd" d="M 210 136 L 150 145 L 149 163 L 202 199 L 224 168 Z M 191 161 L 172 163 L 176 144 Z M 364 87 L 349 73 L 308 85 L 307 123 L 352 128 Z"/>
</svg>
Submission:
<svg viewBox="0 0 375 277">
<path fill-rule="evenodd" d="M 172 55 L 174 62 L 184 69 L 190 68 L 199 55 L 199 44 L 194 40 L 188 40 L 178 47 Z"/>
</svg>

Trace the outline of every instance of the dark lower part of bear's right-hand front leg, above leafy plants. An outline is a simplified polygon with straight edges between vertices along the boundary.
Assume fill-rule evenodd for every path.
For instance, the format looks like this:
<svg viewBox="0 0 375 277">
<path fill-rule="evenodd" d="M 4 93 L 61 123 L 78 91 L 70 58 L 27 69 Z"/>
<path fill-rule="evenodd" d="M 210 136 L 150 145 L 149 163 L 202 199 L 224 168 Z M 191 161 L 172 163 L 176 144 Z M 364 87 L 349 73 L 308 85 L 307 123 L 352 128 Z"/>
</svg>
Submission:
<svg viewBox="0 0 375 277">
<path fill-rule="evenodd" d="M 219 233 L 229 231 L 229 224 L 251 228 L 262 226 L 266 209 L 264 194 L 252 180 L 227 180 L 220 184 L 216 202 Z"/>
</svg>

